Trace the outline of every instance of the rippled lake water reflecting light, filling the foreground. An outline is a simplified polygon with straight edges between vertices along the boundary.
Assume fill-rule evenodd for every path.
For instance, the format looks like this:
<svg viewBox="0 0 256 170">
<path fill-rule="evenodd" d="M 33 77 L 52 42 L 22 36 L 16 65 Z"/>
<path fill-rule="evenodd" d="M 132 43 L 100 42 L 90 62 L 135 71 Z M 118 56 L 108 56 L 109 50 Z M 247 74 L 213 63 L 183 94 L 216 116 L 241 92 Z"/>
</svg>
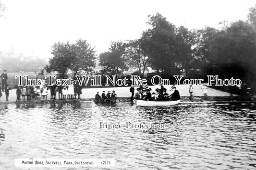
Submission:
<svg viewBox="0 0 256 170">
<path fill-rule="evenodd" d="M 101 129 L 100 122 L 161 123 L 166 128 Z M 255 132 L 253 103 L 3 104 L 0 165 L 13 169 L 15 158 L 116 158 L 117 169 L 253 170 Z"/>
</svg>

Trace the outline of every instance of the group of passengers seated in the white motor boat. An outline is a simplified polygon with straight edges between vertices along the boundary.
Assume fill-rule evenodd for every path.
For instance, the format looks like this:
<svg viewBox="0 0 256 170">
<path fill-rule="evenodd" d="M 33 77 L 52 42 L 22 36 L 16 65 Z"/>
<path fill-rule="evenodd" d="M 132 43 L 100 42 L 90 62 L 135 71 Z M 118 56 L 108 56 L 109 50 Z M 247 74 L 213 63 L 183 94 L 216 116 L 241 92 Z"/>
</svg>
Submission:
<svg viewBox="0 0 256 170">
<path fill-rule="evenodd" d="M 132 99 L 132 98 L 131 98 Z M 169 93 L 167 89 L 161 85 L 160 89 L 157 88 L 155 92 L 152 92 L 152 89 L 146 86 L 140 86 L 137 88 L 137 93 L 135 94 L 135 99 L 137 100 L 148 100 L 148 101 L 166 101 L 166 100 L 180 100 L 180 93 L 173 85 Z"/>
</svg>

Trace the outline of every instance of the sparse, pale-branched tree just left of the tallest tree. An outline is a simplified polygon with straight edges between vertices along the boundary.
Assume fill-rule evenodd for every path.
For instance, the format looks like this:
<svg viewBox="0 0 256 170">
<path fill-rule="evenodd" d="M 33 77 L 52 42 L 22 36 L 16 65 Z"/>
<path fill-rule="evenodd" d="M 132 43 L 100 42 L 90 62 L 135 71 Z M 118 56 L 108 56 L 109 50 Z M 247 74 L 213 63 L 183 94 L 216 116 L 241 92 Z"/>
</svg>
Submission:
<svg viewBox="0 0 256 170">
<path fill-rule="evenodd" d="M 127 64 L 130 67 L 135 68 L 140 74 L 140 76 L 143 78 L 145 74 L 145 70 L 149 65 L 148 61 L 150 58 L 141 49 L 140 39 L 130 41 L 127 44 L 127 47 L 125 49 L 125 57 L 126 57 Z"/>
</svg>

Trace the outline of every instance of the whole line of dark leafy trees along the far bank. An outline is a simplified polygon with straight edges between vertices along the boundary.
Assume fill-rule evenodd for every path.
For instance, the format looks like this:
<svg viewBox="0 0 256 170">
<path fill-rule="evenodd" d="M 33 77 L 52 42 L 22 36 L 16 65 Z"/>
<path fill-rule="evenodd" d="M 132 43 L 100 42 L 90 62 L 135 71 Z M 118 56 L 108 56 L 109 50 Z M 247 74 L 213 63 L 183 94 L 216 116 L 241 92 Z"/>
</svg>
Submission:
<svg viewBox="0 0 256 170">
<path fill-rule="evenodd" d="M 91 72 L 99 60 L 100 74 L 117 75 L 131 68 L 144 77 L 148 68 L 164 78 L 183 74 L 198 78 L 219 75 L 256 85 L 256 6 L 247 21 L 220 22 L 220 28 L 189 30 L 177 27 L 161 14 L 148 16 L 148 29 L 136 40 L 111 42 L 108 51 L 96 55 L 85 40 L 57 42 L 46 66 L 63 78 Z M 150 74 L 148 74 L 150 76 Z"/>
</svg>

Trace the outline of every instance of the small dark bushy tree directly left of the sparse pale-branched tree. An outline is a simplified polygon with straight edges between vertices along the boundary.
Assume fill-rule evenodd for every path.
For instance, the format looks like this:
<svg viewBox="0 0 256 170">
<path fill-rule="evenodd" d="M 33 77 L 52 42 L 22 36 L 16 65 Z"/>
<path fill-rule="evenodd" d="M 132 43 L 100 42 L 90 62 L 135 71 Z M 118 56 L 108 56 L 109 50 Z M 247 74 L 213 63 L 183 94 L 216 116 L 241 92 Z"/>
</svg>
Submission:
<svg viewBox="0 0 256 170">
<path fill-rule="evenodd" d="M 99 64 L 103 66 L 102 74 L 116 74 L 127 70 L 126 60 L 123 56 L 126 44 L 123 42 L 111 42 L 109 52 L 99 54 Z"/>
</svg>

